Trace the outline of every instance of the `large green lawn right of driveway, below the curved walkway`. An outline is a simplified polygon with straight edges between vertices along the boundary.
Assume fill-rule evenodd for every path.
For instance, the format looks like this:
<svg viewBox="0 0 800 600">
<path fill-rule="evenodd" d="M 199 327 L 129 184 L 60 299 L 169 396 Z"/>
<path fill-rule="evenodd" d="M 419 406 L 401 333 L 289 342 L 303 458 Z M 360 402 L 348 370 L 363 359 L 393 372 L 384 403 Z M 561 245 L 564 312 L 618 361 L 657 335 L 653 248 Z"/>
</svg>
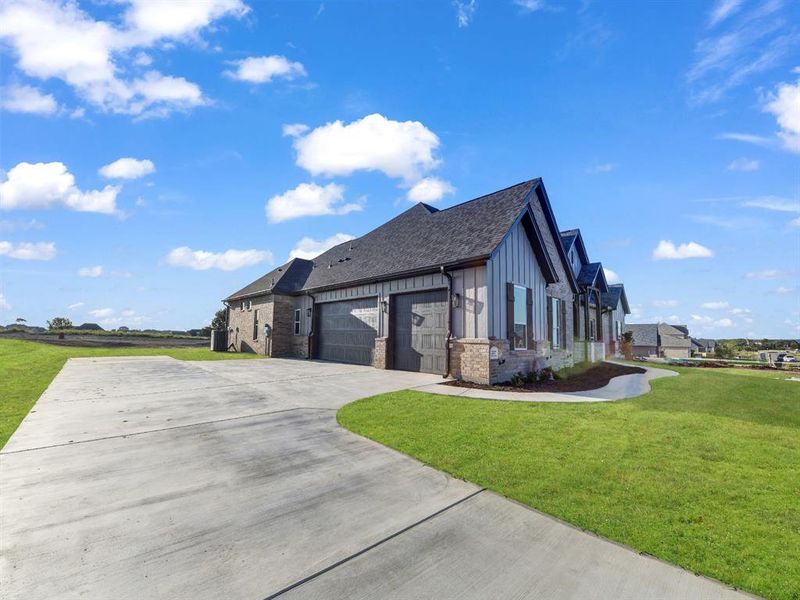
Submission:
<svg viewBox="0 0 800 600">
<path fill-rule="evenodd" d="M 675 368 L 634 400 L 493 402 L 404 391 L 348 429 L 697 573 L 800 598 L 800 383 Z"/>
</svg>

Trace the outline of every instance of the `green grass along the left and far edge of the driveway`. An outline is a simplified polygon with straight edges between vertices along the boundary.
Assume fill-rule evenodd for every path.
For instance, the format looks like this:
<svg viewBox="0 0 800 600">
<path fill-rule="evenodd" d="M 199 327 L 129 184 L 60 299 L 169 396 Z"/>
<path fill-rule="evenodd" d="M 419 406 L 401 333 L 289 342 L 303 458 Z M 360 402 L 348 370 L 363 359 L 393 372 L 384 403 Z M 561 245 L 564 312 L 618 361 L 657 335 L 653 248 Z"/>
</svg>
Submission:
<svg viewBox="0 0 800 600">
<path fill-rule="evenodd" d="M 263 358 L 256 354 L 211 352 L 207 348 L 74 348 L 0 339 L 0 448 L 67 359 L 84 356 L 171 356 L 179 360 Z"/>
</svg>

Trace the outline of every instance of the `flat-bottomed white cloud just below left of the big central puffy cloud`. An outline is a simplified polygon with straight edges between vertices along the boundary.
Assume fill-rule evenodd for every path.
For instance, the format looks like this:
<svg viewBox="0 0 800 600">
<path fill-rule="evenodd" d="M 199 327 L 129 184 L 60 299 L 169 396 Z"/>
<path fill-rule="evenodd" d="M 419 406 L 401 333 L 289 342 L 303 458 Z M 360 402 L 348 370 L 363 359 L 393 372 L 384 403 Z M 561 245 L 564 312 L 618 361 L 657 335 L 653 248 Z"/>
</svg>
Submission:
<svg viewBox="0 0 800 600">
<path fill-rule="evenodd" d="M 280 223 L 299 217 L 319 215 L 346 215 L 361 210 L 361 204 L 342 204 L 344 186 L 329 183 L 301 183 L 293 190 L 267 200 L 266 213 L 270 223 Z"/>
</svg>

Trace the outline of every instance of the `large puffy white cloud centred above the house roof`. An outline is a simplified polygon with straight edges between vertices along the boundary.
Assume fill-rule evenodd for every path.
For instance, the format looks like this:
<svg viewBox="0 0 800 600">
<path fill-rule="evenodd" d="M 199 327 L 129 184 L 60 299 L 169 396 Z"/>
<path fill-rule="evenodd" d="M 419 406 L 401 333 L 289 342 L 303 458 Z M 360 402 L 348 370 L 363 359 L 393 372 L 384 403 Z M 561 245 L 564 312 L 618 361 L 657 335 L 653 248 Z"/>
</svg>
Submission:
<svg viewBox="0 0 800 600">
<path fill-rule="evenodd" d="M 334 121 L 297 136 L 297 165 L 312 175 L 381 171 L 409 184 L 436 168 L 439 138 L 419 121 L 393 121 L 380 114 L 344 124 Z"/>
</svg>

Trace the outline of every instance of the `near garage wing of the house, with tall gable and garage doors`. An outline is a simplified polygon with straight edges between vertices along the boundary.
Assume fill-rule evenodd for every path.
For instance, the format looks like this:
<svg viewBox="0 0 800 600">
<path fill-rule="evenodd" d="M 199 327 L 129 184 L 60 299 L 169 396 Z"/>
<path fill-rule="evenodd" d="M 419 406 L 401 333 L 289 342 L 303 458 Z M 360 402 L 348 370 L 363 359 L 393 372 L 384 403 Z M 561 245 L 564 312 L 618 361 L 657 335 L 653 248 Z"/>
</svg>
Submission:
<svg viewBox="0 0 800 600">
<path fill-rule="evenodd" d="M 575 362 L 579 295 L 544 184 L 532 179 L 442 210 L 416 204 L 224 302 L 239 351 L 494 383 Z"/>
</svg>

